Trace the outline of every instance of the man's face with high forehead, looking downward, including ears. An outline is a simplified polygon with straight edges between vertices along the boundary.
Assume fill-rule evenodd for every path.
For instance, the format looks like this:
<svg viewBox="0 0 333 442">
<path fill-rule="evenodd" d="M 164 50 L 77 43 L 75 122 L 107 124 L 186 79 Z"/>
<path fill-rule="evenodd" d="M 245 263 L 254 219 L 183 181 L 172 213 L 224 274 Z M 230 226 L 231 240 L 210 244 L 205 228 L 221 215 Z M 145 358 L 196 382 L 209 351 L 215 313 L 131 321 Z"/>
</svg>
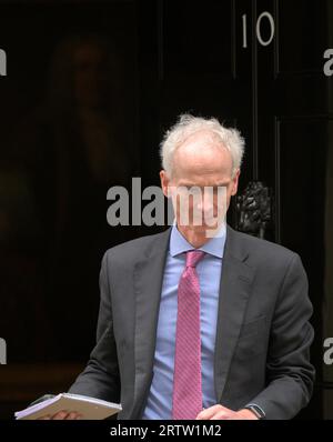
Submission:
<svg viewBox="0 0 333 442">
<path fill-rule="evenodd" d="M 218 135 L 199 131 L 175 151 L 173 175 L 161 171 L 160 177 L 163 193 L 172 198 L 178 225 L 203 234 L 224 221 L 239 171 L 232 178 L 231 154 Z"/>
</svg>

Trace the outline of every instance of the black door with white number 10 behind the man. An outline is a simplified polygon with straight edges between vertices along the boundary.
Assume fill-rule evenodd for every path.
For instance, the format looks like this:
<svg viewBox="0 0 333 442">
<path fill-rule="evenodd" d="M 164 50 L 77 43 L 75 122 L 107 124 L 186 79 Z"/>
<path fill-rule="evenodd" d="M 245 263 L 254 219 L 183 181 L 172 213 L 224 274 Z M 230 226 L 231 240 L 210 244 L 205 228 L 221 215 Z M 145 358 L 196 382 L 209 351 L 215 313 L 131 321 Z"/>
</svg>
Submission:
<svg viewBox="0 0 333 442">
<path fill-rule="evenodd" d="M 332 369 L 323 370 L 333 310 L 327 248 L 333 78 L 324 73 L 332 8 L 329 0 L 160 0 L 139 8 L 143 175 L 158 182 L 157 145 L 178 114 L 235 124 L 246 153 L 229 221 L 294 250 L 306 269 L 317 378 L 302 418 L 329 418 L 332 410 Z M 261 201 L 261 228 L 251 225 L 251 217 L 248 224 L 240 219 L 249 194 Z"/>
</svg>

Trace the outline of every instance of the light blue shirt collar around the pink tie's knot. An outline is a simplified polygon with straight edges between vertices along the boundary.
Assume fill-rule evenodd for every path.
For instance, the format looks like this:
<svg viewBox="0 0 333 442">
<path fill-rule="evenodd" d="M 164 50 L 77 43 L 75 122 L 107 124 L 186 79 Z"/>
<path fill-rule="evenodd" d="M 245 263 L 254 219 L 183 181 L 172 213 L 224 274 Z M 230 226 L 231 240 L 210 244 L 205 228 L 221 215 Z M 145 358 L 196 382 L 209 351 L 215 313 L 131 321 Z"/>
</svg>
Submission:
<svg viewBox="0 0 333 442">
<path fill-rule="evenodd" d="M 226 227 L 225 223 L 221 225 L 218 233 L 211 238 L 205 244 L 196 250 L 202 250 L 205 253 L 209 253 L 216 258 L 223 258 L 224 244 L 226 237 Z M 176 224 L 172 225 L 171 235 L 170 235 L 170 247 L 169 251 L 171 257 L 176 257 L 180 253 L 188 252 L 189 250 L 194 250 L 193 245 L 191 245 L 186 239 L 182 235 L 182 233 L 178 230 Z"/>
</svg>

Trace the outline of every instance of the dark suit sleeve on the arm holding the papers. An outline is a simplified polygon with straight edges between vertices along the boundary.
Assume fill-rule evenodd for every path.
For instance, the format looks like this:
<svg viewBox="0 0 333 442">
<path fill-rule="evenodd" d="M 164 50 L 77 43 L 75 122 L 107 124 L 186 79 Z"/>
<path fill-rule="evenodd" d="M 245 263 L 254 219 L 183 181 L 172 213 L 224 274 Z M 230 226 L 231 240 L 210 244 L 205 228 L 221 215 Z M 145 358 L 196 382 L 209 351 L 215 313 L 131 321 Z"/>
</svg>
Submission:
<svg viewBox="0 0 333 442">
<path fill-rule="evenodd" d="M 77 378 L 69 392 L 119 402 L 120 376 L 108 280 L 108 252 L 104 254 L 101 265 L 100 295 L 97 344 L 84 371 Z"/>
</svg>

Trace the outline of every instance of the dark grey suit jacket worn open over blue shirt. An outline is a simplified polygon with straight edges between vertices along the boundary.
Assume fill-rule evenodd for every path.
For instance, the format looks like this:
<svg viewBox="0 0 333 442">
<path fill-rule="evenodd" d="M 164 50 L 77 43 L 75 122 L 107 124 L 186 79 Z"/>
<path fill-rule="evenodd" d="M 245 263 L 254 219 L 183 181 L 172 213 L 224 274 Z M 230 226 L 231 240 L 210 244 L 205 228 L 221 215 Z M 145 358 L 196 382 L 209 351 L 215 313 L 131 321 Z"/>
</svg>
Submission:
<svg viewBox="0 0 333 442">
<path fill-rule="evenodd" d="M 141 419 L 147 403 L 169 237 L 170 230 L 117 245 L 102 261 L 97 345 L 70 392 L 121 401 L 119 419 Z M 305 406 L 314 380 L 311 314 L 300 257 L 228 227 L 216 403 L 238 410 L 254 402 L 268 419 L 290 419 Z"/>
</svg>

